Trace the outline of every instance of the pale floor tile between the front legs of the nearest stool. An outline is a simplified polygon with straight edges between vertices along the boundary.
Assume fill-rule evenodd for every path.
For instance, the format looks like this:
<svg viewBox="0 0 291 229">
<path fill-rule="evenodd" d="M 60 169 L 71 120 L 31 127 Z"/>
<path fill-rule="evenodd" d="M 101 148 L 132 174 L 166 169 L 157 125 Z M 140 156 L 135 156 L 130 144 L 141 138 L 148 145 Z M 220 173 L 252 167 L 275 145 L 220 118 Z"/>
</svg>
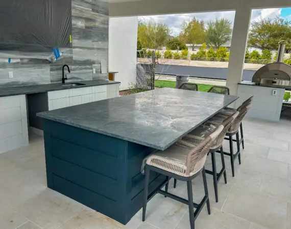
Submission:
<svg viewBox="0 0 291 229">
<path fill-rule="evenodd" d="M 159 228 L 174 229 L 186 210 L 187 205 L 157 194 L 148 202 L 146 222 Z M 141 221 L 142 211 L 136 216 Z"/>
</svg>

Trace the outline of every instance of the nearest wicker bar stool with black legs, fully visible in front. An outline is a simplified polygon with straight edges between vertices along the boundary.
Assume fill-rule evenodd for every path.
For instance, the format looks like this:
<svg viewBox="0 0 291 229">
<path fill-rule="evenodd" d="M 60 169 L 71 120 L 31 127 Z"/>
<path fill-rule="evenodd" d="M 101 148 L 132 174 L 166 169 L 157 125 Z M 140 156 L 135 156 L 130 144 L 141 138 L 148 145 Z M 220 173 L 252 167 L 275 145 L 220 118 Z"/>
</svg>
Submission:
<svg viewBox="0 0 291 229">
<path fill-rule="evenodd" d="M 173 146 L 165 151 L 158 151 L 146 160 L 144 192 L 142 203 L 142 221 L 146 217 L 147 203 L 152 198 L 148 196 L 150 172 L 165 175 L 167 180 L 175 178 L 187 182 L 188 200 L 177 195 L 171 194 L 167 191 L 168 183 L 165 186 L 165 191 L 158 189 L 156 193 L 160 193 L 169 198 L 173 198 L 183 204 L 189 206 L 189 218 L 191 229 L 195 228 L 195 220 L 201 212 L 204 205 L 207 205 L 208 214 L 210 214 L 210 202 L 208 196 L 206 174 L 205 174 L 205 160 L 207 153 L 212 144 L 212 141 L 223 131 L 223 126 L 217 127 L 210 135 L 204 139 L 195 140 L 195 142 L 185 142 L 179 140 Z M 192 179 L 197 177 L 202 171 L 205 195 L 200 204 L 193 203 L 192 193 Z M 155 193 L 154 193 L 155 194 Z M 194 208 L 196 211 L 194 212 Z"/>
</svg>

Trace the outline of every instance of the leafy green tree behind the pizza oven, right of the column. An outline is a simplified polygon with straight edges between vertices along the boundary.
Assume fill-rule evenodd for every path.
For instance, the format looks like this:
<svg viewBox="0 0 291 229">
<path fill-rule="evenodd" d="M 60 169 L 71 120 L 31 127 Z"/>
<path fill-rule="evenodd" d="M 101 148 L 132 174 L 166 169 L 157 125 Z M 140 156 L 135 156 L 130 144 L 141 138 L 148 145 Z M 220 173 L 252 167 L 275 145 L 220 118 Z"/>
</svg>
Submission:
<svg viewBox="0 0 291 229">
<path fill-rule="evenodd" d="M 259 49 L 278 49 L 278 43 L 286 41 L 286 53 L 291 52 L 291 21 L 283 18 L 265 18 L 254 21 L 249 33 L 248 45 Z"/>
</svg>

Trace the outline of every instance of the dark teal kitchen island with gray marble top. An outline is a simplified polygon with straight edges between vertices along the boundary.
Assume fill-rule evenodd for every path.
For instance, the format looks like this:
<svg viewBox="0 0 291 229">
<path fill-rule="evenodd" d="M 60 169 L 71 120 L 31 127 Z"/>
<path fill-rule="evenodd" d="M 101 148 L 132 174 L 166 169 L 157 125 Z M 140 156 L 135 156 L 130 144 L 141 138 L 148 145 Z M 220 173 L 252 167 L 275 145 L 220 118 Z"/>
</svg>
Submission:
<svg viewBox="0 0 291 229">
<path fill-rule="evenodd" d="M 142 207 L 142 160 L 237 98 L 163 88 L 38 113 L 47 186 L 126 224 Z M 152 173 L 149 192 L 165 182 Z"/>
</svg>

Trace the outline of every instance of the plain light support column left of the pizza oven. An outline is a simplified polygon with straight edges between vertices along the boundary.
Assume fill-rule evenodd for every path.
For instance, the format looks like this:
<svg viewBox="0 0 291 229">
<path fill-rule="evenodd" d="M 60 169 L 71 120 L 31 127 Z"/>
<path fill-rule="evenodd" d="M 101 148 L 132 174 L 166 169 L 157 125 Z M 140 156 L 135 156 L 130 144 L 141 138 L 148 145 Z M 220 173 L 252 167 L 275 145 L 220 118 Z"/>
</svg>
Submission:
<svg viewBox="0 0 291 229">
<path fill-rule="evenodd" d="M 231 95 L 237 94 L 237 83 L 243 76 L 248 32 L 252 9 L 240 6 L 235 11 L 226 86 Z"/>
</svg>

